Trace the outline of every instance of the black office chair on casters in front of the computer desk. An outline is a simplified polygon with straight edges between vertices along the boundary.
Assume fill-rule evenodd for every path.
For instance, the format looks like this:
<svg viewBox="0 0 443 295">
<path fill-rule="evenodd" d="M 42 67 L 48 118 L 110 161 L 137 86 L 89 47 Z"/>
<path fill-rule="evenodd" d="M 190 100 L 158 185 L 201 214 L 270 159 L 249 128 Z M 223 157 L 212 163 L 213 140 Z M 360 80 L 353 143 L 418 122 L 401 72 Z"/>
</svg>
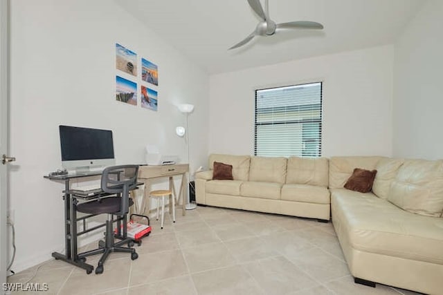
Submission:
<svg viewBox="0 0 443 295">
<path fill-rule="evenodd" d="M 120 165 L 111 166 L 103 170 L 102 173 L 102 190 L 106 193 L 113 193 L 117 196 L 99 198 L 89 202 L 78 204 L 77 211 L 89 214 L 102 214 L 107 213 L 108 218 L 106 221 L 106 233 L 105 243 L 99 242 L 99 248 L 91 251 L 86 251 L 78 255 L 80 260 L 86 260 L 85 257 L 100 254 L 102 257 L 98 261 L 96 268 L 96 274 L 103 272 L 103 263 L 111 252 L 127 252 L 131 253 L 131 259 L 138 258 L 136 250 L 131 247 L 120 247 L 121 245 L 128 243 L 128 245 L 134 245 L 132 238 L 124 238 L 119 242 L 114 242 L 114 229 L 112 218 L 114 215 L 118 217 L 125 217 L 129 211 L 129 207 L 134 204 L 132 198 L 129 198 L 129 191 L 136 188 L 137 184 L 138 165 Z M 126 220 L 124 218 L 123 220 Z M 126 227 L 126 225 L 123 225 Z"/>
</svg>

